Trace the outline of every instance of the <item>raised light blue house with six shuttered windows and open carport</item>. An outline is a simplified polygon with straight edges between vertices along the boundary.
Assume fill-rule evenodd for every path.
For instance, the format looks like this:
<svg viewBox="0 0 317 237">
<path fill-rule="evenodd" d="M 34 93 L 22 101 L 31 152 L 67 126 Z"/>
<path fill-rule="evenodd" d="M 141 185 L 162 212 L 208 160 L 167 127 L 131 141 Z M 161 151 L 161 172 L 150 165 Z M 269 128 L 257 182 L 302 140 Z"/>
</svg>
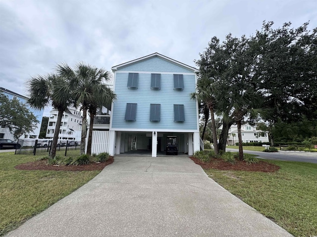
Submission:
<svg viewBox="0 0 317 237">
<path fill-rule="evenodd" d="M 103 151 L 110 155 L 142 150 L 156 157 L 164 154 L 167 136 L 177 137 L 179 153 L 200 150 L 198 103 L 190 99 L 196 68 L 153 53 L 114 66 L 112 72 L 117 100 L 95 118 L 92 153 L 102 151 L 95 145 L 105 136 Z"/>
</svg>

